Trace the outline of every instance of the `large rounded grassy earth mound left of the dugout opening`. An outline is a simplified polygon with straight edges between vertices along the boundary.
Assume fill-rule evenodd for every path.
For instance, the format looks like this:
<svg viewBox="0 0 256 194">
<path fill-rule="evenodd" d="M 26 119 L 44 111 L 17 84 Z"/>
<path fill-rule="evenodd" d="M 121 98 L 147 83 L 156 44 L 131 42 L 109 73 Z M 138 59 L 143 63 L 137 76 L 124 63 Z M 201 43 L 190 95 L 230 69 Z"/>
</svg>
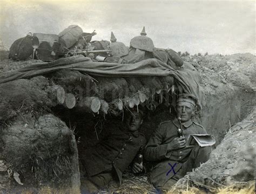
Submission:
<svg viewBox="0 0 256 194">
<path fill-rule="evenodd" d="M 31 117 L 20 114 L 7 124 L 0 137 L 1 159 L 5 182 L 15 174 L 19 181 L 12 181 L 6 191 L 19 191 L 19 185 L 27 190 L 36 185 L 52 188 L 79 188 L 78 153 L 75 136 L 65 123 L 52 114 Z M 9 176 L 8 176 L 9 175 Z M 67 177 L 68 176 L 68 177 Z M 3 181 L 4 182 L 4 181 Z M 1 188 L 1 184 L 0 184 Z"/>
</svg>

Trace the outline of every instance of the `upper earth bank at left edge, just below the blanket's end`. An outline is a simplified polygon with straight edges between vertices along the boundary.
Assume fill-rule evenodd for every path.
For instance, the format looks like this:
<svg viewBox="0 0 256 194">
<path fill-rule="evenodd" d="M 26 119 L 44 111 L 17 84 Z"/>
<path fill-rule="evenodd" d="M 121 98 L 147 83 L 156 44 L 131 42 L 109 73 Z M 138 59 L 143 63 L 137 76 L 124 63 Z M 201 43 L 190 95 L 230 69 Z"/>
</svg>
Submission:
<svg viewBox="0 0 256 194">
<path fill-rule="evenodd" d="M 51 104 L 46 92 L 42 90 L 48 85 L 45 77 L 39 76 L 31 80 L 15 80 L 0 85 L 0 121 L 4 122 L 21 112 L 43 110 Z"/>
</svg>

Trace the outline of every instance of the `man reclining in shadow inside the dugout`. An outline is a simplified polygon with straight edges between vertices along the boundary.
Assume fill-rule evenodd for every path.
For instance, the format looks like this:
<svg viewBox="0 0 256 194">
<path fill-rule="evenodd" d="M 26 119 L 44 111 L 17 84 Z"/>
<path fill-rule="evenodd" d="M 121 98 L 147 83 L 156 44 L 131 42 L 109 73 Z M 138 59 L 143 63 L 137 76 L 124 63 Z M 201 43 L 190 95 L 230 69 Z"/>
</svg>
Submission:
<svg viewBox="0 0 256 194">
<path fill-rule="evenodd" d="M 145 147 L 146 140 L 138 132 L 143 123 L 143 111 L 132 111 L 126 123 L 123 127 L 109 128 L 102 141 L 85 150 L 82 163 L 86 170 L 87 192 L 120 185 L 124 170 Z M 140 173 L 143 169 L 142 164 L 132 163 L 133 173 Z"/>
</svg>

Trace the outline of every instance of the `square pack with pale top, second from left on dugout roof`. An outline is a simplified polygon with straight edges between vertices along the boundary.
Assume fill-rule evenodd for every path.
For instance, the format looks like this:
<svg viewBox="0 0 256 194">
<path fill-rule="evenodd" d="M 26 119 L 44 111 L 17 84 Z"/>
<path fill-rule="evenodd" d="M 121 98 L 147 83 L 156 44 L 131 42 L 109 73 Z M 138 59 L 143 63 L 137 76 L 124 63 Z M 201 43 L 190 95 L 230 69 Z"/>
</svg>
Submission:
<svg viewBox="0 0 256 194">
<path fill-rule="evenodd" d="M 58 52 L 60 44 L 57 34 L 34 33 L 33 35 L 39 40 L 37 59 L 42 61 L 53 61 L 59 58 Z"/>
</svg>

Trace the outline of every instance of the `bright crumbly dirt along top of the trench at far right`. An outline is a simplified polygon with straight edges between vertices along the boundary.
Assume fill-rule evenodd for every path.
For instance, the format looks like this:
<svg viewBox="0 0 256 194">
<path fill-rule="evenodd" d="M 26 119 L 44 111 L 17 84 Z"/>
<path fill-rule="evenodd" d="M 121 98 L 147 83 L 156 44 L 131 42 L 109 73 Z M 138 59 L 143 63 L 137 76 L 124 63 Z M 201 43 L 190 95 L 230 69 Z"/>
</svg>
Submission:
<svg viewBox="0 0 256 194">
<path fill-rule="evenodd" d="M 256 58 L 250 53 L 233 55 L 206 55 L 206 56 L 187 56 L 183 58 L 191 62 L 199 72 L 210 74 L 215 72 L 218 76 L 213 78 L 214 82 L 224 84 L 232 83 L 237 87 L 242 87 L 249 91 L 256 91 L 255 88 L 255 62 Z M 207 69 L 206 69 L 207 68 Z M 208 72 L 207 72 L 208 71 Z M 203 82 L 205 81 L 203 77 Z"/>
</svg>

